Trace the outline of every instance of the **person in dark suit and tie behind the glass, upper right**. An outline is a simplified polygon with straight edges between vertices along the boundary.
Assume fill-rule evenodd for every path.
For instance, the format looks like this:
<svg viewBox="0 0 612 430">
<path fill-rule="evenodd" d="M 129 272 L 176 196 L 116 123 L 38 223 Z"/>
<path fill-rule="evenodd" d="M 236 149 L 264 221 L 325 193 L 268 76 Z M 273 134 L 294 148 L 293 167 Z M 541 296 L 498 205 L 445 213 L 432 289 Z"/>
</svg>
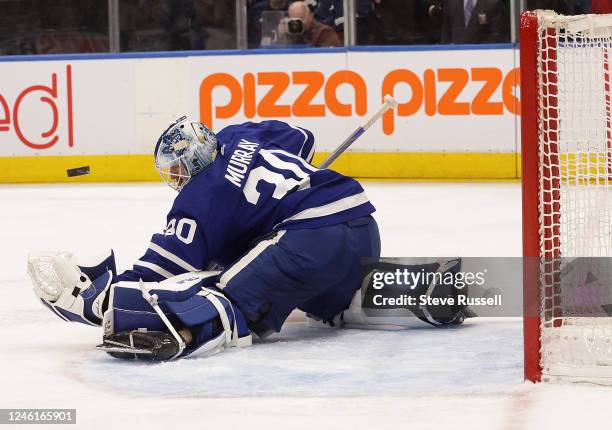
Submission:
<svg viewBox="0 0 612 430">
<path fill-rule="evenodd" d="M 442 43 L 501 43 L 510 40 L 509 18 L 502 0 L 446 0 Z"/>
</svg>

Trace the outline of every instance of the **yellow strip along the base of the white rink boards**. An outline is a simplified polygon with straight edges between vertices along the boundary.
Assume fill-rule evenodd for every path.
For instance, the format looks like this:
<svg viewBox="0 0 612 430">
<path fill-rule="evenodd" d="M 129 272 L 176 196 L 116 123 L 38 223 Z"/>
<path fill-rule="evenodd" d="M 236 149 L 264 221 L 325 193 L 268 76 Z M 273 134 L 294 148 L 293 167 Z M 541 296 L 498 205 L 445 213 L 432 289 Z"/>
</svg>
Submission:
<svg viewBox="0 0 612 430">
<path fill-rule="evenodd" d="M 318 152 L 314 165 L 329 153 Z M 364 179 L 487 181 L 517 179 L 515 153 L 347 152 L 331 168 Z M 68 171 L 89 167 L 89 173 Z M 0 157 L 0 183 L 159 181 L 152 155 Z"/>
</svg>

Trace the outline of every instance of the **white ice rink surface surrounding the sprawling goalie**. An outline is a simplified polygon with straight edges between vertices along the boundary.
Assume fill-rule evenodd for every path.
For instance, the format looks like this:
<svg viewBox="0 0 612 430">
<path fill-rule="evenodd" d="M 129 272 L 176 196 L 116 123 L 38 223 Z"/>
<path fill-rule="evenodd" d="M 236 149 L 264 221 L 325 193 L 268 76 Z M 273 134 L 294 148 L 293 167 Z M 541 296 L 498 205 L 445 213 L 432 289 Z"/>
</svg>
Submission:
<svg viewBox="0 0 612 430">
<path fill-rule="evenodd" d="M 386 256 L 521 255 L 518 184 L 364 185 Z M 26 256 L 94 258 L 114 248 L 127 268 L 163 226 L 172 197 L 161 184 L 0 187 L 0 408 L 76 408 L 85 429 L 612 425 L 609 388 L 523 383 L 518 319 L 401 332 L 292 323 L 203 359 L 107 357 L 93 349 L 99 329 L 64 323 L 37 303 Z"/>
</svg>

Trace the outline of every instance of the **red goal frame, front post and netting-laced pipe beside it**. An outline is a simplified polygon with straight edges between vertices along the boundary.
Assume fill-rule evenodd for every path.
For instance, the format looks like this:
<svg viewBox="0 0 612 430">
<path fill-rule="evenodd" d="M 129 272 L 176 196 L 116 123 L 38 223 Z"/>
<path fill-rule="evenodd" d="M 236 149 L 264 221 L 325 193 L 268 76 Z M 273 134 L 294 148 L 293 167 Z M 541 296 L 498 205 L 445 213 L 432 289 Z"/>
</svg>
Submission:
<svg viewBox="0 0 612 430">
<path fill-rule="evenodd" d="M 554 29 L 547 30 L 549 32 Z M 557 67 L 554 39 L 545 38 L 539 58 L 538 18 L 535 12 L 521 16 L 521 155 L 523 198 L 523 336 L 525 379 L 537 382 L 542 377 L 540 364 L 541 311 L 544 299 L 547 319 L 560 317 L 560 308 L 553 303 L 559 288 L 559 167 L 556 148 L 558 107 L 556 104 Z M 546 72 L 539 77 L 538 64 L 545 63 Z M 538 103 L 542 93 L 542 105 Z M 540 152 L 540 137 L 550 146 Z M 540 187 L 542 183 L 542 187 Z M 540 211 L 542 208 L 542 211 Z M 542 212 L 542 213 L 541 213 Z M 540 217 L 544 227 L 541 229 Z M 541 265 L 542 263 L 542 265 Z M 542 270 L 544 269 L 544 270 Z M 544 272 L 544 273 L 542 273 Z M 546 285 L 542 291 L 541 277 Z M 542 297 L 542 293 L 544 297 Z M 560 319 L 554 319 L 555 324 Z M 557 322 L 558 321 L 558 322 Z"/>
</svg>

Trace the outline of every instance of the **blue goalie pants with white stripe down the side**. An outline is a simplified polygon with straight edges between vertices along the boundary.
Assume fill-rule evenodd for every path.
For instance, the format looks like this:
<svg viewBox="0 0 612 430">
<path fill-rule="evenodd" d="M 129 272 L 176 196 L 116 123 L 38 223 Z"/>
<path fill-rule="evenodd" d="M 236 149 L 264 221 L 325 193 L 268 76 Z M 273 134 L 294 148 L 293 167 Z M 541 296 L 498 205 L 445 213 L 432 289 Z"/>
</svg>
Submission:
<svg viewBox="0 0 612 430">
<path fill-rule="evenodd" d="M 296 308 L 324 320 L 348 308 L 361 284 L 361 259 L 379 256 L 380 236 L 371 216 L 281 230 L 223 272 L 219 287 L 262 335 L 280 331 Z"/>
</svg>

